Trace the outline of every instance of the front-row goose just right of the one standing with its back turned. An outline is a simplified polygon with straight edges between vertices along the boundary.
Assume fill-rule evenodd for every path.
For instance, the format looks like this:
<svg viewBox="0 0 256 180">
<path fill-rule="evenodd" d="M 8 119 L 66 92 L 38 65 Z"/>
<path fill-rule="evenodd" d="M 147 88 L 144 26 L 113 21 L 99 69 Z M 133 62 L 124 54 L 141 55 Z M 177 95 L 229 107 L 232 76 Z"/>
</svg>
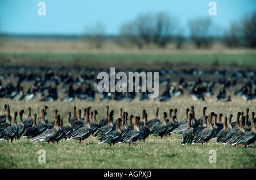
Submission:
<svg viewBox="0 0 256 180">
<path fill-rule="evenodd" d="M 199 133 L 199 135 L 193 140 L 192 144 L 194 143 L 208 144 L 209 140 L 212 139 L 213 133 L 214 133 L 214 129 L 212 127 L 212 118 L 214 115 L 215 115 L 214 112 L 210 113 L 210 118 L 207 121 L 207 128 L 203 129 L 203 131 Z"/>
</svg>

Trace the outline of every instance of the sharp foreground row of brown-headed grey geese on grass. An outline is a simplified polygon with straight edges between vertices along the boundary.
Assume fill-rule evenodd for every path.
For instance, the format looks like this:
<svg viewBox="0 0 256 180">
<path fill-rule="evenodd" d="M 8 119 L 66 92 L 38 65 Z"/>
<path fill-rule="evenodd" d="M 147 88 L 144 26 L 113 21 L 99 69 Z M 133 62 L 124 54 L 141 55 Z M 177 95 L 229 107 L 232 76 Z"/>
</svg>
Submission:
<svg viewBox="0 0 256 180">
<path fill-rule="evenodd" d="M 120 108 L 119 118 L 114 120 L 114 110 L 106 107 L 105 118 L 97 121 L 97 110 L 91 111 L 91 107 L 84 108 L 84 115 L 81 110 L 76 115 L 76 106 L 73 108 L 73 116 L 68 112 L 67 124 L 63 124 L 63 120 L 58 114 L 58 110 L 54 111 L 53 120 L 48 118 L 47 109 L 42 108 L 41 116 L 31 116 L 31 108 L 28 107 L 27 118 L 23 120 L 24 110 L 10 114 L 9 104 L 5 104 L 4 113 L 0 115 L 0 140 L 19 140 L 23 137 L 32 141 L 41 141 L 46 143 L 58 143 L 60 140 L 79 140 L 84 142 L 89 136 L 97 138 L 98 144 L 108 143 L 113 146 L 116 143 L 129 143 L 136 145 L 136 141 L 145 142 L 148 136 L 155 137 L 171 136 L 172 133 L 181 134 L 181 144 L 206 143 L 214 139 L 216 143 L 231 144 L 237 146 L 245 145 L 249 148 L 256 140 L 255 112 L 246 113 L 237 112 L 236 122 L 232 122 L 233 115 L 224 116 L 223 114 L 215 114 L 210 112 L 207 115 L 207 107 L 203 107 L 203 116 L 199 119 L 195 118 L 194 107 L 185 110 L 184 120 L 177 120 L 177 109 L 170 108 L 170 111 L 163 112 L 162 120 L 159 119 L 159 108 L 153 119 L 148 120 L 146 110 L 142 111 L 142 116 L 128 115 Z M 110 112 L 109 112 L 110 111 Z M 17 116 L 19 122 L 17 123 Z M 222 122 L 224 117 L 224 123 Z M 228 119 L 229 117 L 229 119 Z M 39 119 L 36 122 L 36 119 Z M 13 119 L 13 123 L 11 120 Z M 133 123 L 134 119 L 134 123 Z"/>
</svg>

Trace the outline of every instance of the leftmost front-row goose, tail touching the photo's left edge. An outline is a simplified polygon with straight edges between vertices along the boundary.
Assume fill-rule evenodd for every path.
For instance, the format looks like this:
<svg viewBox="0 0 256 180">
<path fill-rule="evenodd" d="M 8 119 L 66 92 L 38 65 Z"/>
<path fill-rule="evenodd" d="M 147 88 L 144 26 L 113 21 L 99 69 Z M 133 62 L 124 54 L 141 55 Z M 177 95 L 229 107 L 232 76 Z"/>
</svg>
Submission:
<svg viewBox="0 0 256 180">
<path fill-rule="evenodd" d="M 13 143 L 13 139 L 15 138 L 15 136 L 17 135 L 17 133 L 19 131 L 18 125 L 16 123 L 17 115 L 18 115 L 18 112 L 15 111 L 13 125 L 9 125 L 9 127 L 7 127 L 5 129 L 5 131 L 2 133 L 0 141 L 5 139 L 5 140 L 7 140 L 7 142 L 9 142 L 9 139 L 10 139 L 11 143 Z"/>
</svg>

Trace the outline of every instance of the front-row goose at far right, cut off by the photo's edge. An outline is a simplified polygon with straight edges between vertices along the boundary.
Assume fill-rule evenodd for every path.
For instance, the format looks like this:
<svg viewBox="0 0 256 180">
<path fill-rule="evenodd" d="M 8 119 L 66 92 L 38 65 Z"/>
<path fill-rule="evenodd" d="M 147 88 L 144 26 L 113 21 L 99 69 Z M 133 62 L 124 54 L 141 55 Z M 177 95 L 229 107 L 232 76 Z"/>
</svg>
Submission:
<svg viewBox="0 0 256 180">
<path fill-rule="evenodd" d="M 250 144 L 253 144 L 256 141 L 256 132 L 255 132 L 255 123 L 256 123 L 256 118 L 251 120 L 251 130 L 245 132 L 242 136 L 237 138 L 232 145 L 237 145 L 237 144 L 244 144 L 245 148 L 249 148 Z"/>
</svg>

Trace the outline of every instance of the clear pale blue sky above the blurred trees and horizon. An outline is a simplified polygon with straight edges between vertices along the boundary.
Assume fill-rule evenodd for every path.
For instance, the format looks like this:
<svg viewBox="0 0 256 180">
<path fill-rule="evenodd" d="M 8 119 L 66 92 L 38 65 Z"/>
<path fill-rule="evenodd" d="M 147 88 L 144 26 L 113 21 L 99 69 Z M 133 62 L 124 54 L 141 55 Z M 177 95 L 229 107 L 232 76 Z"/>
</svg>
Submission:
<svg viewBox="0 0 256 180">
<path fill-rule="evenodd" d="M 46 3 L 46 16 L 38 3 Z M 214 1 L 214 0 L 212 0 Z M 208 17 L 207 0 L 1 0 L 0 32 L 7 34 L 81 35 L 97 23 L 108 35 L 117 35 L 123 23 L 148 12 L 167 12 L 187 31 L 188 20 Z M 217 15 L 210 16 L 217 29 L 256 10 L 255 0 L 215 0 Z"/>
</svg>

